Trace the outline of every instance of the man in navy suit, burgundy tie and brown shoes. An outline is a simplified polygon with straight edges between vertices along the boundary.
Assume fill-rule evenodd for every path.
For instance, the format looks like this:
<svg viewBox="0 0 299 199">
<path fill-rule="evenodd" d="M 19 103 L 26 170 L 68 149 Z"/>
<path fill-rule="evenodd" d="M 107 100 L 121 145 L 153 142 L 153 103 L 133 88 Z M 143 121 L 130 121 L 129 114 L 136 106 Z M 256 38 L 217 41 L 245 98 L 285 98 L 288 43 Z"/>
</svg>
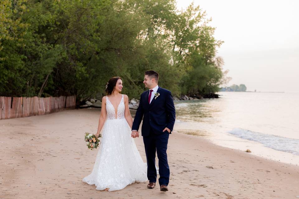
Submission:
<svg viewBox="0 0 299 199">
<path fill-rule="evenodd" d="M 133 138 L 139 137 L 139 125 L 143 117 L 141 135 L 147 160 L 148 188 L 154 188 L 157 180 L 156 151 L 159 159 L 160 191 L 168 191 L 169 166 L 167 160 L 167 143 L 169 134 L 173 131 L 175 108 L 171 92 L 158 86 L 159 74 L 146 71 L 144 76 L 145 88 L 149 90 L 140 96 L 140 104 L 134 118 Z"/>
</svg>

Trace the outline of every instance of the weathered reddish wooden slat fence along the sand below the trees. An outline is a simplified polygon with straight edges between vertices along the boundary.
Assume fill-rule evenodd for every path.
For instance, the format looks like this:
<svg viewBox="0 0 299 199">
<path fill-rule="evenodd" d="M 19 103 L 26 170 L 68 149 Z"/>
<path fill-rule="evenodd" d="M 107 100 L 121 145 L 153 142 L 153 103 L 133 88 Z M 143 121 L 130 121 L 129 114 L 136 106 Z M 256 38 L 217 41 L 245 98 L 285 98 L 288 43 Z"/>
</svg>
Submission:
<svg viewBox="0 0 299 199">
<path fill-rule="evenodd" d="M 0 97 L 0 119 L 44 115 L 66 108 L 74 109 L 76 96 Z"/>
</svg>

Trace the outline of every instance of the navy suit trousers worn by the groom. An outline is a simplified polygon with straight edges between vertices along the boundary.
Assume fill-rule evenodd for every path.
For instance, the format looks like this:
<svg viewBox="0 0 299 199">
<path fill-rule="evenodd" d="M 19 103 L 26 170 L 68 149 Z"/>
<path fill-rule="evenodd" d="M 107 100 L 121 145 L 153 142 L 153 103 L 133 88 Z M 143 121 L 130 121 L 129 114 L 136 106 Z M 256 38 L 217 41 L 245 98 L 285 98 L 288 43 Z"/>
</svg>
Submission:
<svg viewBox="0 0 299 199">
<path fill-rule="evenodd" d="M 150 131 L 149 136 L 143 136 L 143 142 L 145 147 L 145 154 L 147 160 L 147 178 L 150 183 L 156 182 L 157 180 L 157 171 L 156 171 L 156 151 L 159 159 L 159 184 L 165 184 L 166 186 L 169 183 L 169 166 L 167 160 L 167 144 L 168 144 L 168 131 L 165 131 L 162 134 L 154 134 Z"/>
</svg>

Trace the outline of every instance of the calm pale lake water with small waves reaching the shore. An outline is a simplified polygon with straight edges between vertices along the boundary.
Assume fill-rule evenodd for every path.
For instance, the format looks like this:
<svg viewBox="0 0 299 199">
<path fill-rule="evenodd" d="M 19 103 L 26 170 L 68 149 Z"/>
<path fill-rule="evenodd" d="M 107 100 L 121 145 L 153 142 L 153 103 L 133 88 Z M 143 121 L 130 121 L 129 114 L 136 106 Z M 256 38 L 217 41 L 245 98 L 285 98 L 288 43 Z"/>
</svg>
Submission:
<svg viewBox="0 0 299 199">
<path fill-rule="evenodd" d="M 299 93 L 218 94 L 218 99 L 175 101 L 174 130 L 299 164 Z"/>
</svg>

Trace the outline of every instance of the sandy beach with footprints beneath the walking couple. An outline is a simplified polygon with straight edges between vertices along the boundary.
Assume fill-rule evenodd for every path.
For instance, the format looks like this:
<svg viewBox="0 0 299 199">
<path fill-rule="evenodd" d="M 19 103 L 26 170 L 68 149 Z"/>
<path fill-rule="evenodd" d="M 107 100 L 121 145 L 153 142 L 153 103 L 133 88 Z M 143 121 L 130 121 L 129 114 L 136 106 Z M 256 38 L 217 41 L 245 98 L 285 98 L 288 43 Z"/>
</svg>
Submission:
<svg viewBox="0 0 299 199">
<path fill-rule="evenodd" d="M 134 183 L 114 192 L 95 190 L 82 178 L 92 171 L 97 150 L 88 150 L 83 137 L 96 132 L 99 114 L 74 109 L 0 120 L 0 198 L 299 197 L 299 166 L 177 133 L 176 126 L 168 142 L 168 192 L 160 192 L 158 183 L 154 189 Z M 146 161 L 142 137 L 135 143 Z"/>
</svg>

